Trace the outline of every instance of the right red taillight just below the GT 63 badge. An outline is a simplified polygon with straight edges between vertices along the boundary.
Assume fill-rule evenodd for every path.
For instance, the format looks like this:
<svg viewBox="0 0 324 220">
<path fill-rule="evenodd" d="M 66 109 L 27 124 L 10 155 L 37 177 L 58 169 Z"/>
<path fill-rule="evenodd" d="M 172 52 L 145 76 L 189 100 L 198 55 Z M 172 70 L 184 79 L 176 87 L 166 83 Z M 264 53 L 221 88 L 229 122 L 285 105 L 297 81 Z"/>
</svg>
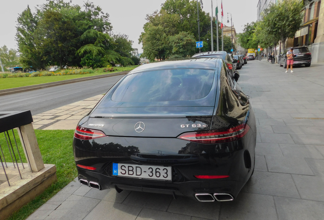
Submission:
<svg viewBox="0 0 324 220">
<path fill-rule="evenodd" d="M 223 131 L 209 130 L 187 132 L 180 134 L 177 138 L 202 144 L 225 143 L 241 139 L 248 133 L 249 129 L 250 126 L 244 123 Z"/>
</svg>

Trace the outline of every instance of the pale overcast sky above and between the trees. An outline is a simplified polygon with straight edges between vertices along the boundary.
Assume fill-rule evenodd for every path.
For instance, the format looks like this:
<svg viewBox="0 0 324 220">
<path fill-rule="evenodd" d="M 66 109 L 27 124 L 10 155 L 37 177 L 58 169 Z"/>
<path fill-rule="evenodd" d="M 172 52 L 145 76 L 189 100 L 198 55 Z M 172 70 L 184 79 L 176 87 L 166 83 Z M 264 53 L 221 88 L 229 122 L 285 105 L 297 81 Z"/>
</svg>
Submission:
<svg viewBox="0 0 324 220">
<path fill-rule="evenodd" d="M 72 0 L 72 4 L 83 5 L 85 0 Z M 110 15 L 110 21 L 113 25 L 113 32 L 128 35 L 128 39 L 133 41 L 133 48 L 138 48 L 139 52 L 143 52 L 142 45 L 139 44 L 139 37 L 143 32 L 143 25 L 146 23 L 147 14 L 160 10 L 161 4 L 165 0 L 92 0 L 95 5 L 102 8 L 102 11 Z M 203 10 L 211 13 L 211 0 L 202 0 Z M 18 14 L 30 6 L 33 12 L 37 5 L 46 3 L 46 0 L 1 0 L 0 11 L 0 47 L 7 45 L 8 48 L 17 49 L 15 41 L 16 21 Z M 219 6 L 219 19 L 221 13 L 221 0 L 212 0 L 213 15 L 215 7 Z M 241 33 L 244 25 L 257 19 L 258 0 L 224 0 L 223 23 L 227 26 L 227 13 L 232 13 L 232 20 L 236 33 Z M 215 15 L 214 15 L 215 16 Z"/>
</svg>

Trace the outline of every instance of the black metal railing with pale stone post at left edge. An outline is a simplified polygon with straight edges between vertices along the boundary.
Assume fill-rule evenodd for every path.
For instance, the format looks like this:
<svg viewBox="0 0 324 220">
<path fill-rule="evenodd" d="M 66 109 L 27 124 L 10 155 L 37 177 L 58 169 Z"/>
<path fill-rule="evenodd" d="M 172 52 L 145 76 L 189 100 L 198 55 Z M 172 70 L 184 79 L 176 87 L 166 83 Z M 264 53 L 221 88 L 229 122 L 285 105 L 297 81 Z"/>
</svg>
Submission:
<svg viewBox="0 0 324 220">
<path fill-rule="evenodd" d="M 44 168 L 32 122 L 31 111 L 0 112 L 0 184 L 6 179 L 10 186 L 10 177 L 18 174 L 22 179 L 21 168 L 25 169 L 23 161 L 28 162 L 31 172 Z M 16 138 L 17 134 L 19 138 Z M 21 149 L 24 154 L 20 153 Z"/>
</svg>

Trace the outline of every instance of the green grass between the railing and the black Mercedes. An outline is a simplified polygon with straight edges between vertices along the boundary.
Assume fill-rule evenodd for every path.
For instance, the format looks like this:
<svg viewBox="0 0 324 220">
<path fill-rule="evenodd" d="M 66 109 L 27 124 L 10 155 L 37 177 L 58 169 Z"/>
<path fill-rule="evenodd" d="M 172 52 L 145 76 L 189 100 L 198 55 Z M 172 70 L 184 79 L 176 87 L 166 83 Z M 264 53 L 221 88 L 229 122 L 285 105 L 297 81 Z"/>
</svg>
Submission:
<svg viewBox="0 0 324 220">
<path fill-rule="evenodd" d="M 12 216 L 7 218 L 7 220 L 26 219 L 36 209 L 38 209 L 51 197 L 56 195 L 64 186 L 70 183 L 77 176 L 72 151 L 73 132 L 74 130 L 35 130 L 43 161 L 47 164 L 56 165 L 58 181 L 48 187 L 44 193 L 36 197 L 32 202 L 23 206 Z M 9 132 L 9 135 L 14 143 L 12 131 Z M 15 136 L 16 140 L 18 140 L 18 145 L 20 148 L 19 152 L 21 152 L 21 156 L 25 162 L 26 160 L 24 158 L 23 150 L 21 149 L 19 137 L 16 131 Z M 9 160 L 10 155 L 8 154 L 4 133 L 0 133 L 0 144 L 3 150 L 7 150 L 7 152 L 4 153 L 6 154 L 6 159 Z M 13 146 L 14 148 L 16 147 L 15 145 Z"/>
</svg>

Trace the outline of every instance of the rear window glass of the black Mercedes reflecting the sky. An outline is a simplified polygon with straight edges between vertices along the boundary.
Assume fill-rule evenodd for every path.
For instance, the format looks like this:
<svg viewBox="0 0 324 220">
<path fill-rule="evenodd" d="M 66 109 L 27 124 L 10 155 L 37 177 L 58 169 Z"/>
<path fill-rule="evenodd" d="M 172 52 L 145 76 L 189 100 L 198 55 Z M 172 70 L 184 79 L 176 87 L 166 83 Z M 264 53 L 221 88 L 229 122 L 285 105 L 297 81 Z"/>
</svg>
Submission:
<svg viewBox="0 0 324 220">
<path fill-rule="evenodd" d="M 118 102 L 196 100 L 208 95 L 214 70 L 169 69 L 126 76 L 112 95 Z"/>
</svg>

